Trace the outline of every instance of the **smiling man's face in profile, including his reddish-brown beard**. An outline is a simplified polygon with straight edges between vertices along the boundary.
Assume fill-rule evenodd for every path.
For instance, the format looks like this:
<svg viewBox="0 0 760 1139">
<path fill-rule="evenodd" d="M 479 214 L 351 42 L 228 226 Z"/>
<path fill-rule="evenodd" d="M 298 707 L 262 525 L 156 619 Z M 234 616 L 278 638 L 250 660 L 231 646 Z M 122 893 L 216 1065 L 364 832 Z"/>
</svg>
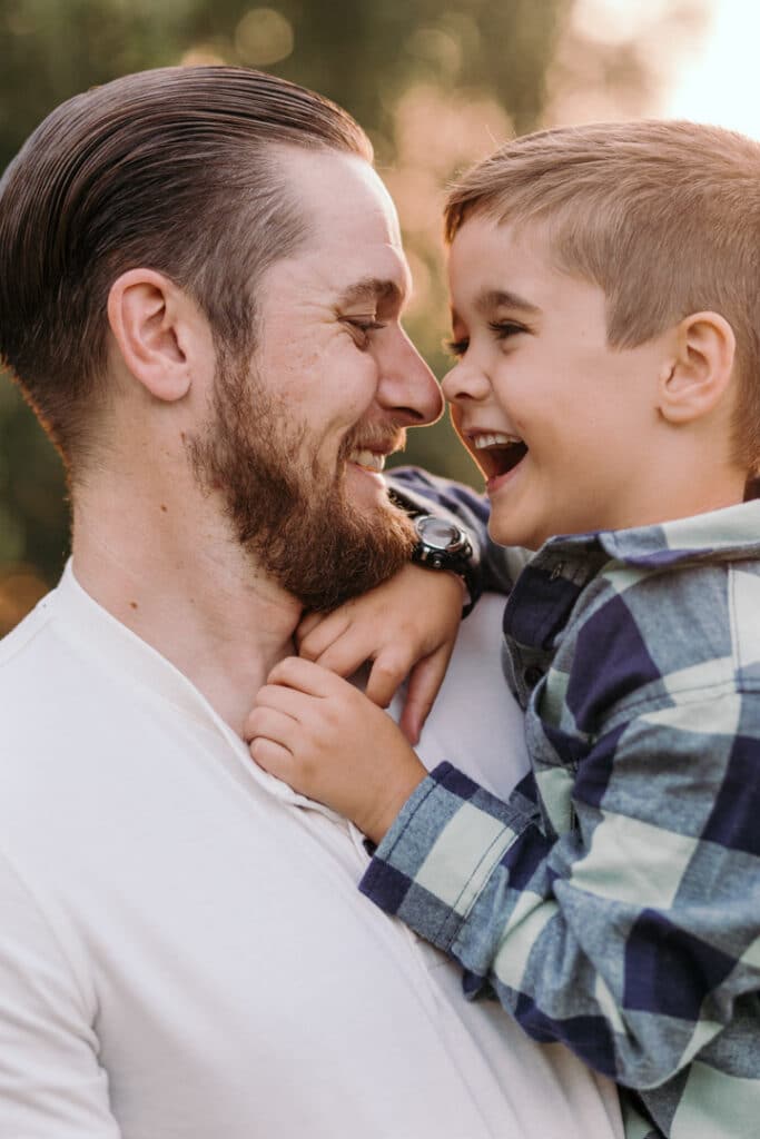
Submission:
<svg viewBox="0 0 760 1139">
<path fill-rule="evenodd" d="M 191 450 L 255 566 L 330 608 L 409 557 L 382 469 L 442 398 L 401 328 L 409 270 L 375 172 L 333 151 L 288 148 L 283 163 L 309 236 L 259 281 L 254 359 L 220 362 L 213 421 Z"/>
</svg>

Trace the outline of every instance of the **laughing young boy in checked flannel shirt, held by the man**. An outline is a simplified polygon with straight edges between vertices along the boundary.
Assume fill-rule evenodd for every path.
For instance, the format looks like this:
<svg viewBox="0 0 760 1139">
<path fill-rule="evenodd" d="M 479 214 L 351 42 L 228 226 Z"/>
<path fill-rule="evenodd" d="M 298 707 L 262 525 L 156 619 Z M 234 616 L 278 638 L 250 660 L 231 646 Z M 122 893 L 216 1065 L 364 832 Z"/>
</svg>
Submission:
<svg viewBox="0 0 760 1139">
<path fill-rule="evenodd" d="M 502 803 L 448 764 L 427 776 L 303 659 L 262 689 L 253 756 L 378 844 L 361 890 L 455 957 L 468 997 L 634 1089 L 630 1137 L 749 1139 L 760 145 L 688 123 L 541 132 L 461 179 L 447 233 L 444 393 L 492 539 L 538 551 L 504 617 L 534 779 Z M 365 608 L 386 639 L 419 623 L 431 577 L 412 576 L 328 617 L 327 640 L 363 636 Z"/>
</svg>

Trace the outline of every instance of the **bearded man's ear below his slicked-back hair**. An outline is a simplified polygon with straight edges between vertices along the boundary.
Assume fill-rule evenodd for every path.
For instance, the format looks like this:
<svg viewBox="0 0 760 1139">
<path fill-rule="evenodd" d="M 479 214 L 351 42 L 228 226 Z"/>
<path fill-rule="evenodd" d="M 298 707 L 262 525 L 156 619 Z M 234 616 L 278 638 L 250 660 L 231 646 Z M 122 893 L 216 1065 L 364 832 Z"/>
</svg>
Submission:
<svg viewBox="0 0 760 1139">
<path fill-rule="evenodd" d="M 181 400 L 190 387 L 195 306 L 153 269 L 129 269 L 111 287 L 108 323 L 131 375 L 157 400 Z"/>
</svg>

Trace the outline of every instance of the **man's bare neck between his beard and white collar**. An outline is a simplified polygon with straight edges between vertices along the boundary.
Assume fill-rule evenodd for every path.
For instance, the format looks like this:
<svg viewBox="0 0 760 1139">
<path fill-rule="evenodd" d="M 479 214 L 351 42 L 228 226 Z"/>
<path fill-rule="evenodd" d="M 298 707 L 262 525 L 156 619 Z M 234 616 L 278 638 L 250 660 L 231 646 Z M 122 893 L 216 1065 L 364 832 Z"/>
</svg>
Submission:
<svg viewBox="0 0 760 1139">
<path fill-rule="evenodd" d="M 98 498 L 97 509 L 75 502 L 77 581 L 239 734 L 269 671 L 294 652 L 299 603 L 255 574 L 216 519 L 193 531 L 188 511 L 171 502 L 125 517 Z"/>
</svg>

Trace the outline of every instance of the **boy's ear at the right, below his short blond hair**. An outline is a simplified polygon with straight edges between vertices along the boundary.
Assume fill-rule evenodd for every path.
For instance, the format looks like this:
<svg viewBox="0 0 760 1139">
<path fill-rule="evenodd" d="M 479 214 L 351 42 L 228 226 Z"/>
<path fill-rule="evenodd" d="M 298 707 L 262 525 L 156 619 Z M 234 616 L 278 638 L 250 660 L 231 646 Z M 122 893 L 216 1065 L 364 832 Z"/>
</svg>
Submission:
<svg viewBox="0 0 760 1139">
<path fill-rule="evenodd" d="M 708 415 L 728 392 L 736 357 L 734 329 L 717 312 L 695 312 L 676 329 L 676 355 L 660 376 L 664 419 L 685 424 Z"/>
</svg>

